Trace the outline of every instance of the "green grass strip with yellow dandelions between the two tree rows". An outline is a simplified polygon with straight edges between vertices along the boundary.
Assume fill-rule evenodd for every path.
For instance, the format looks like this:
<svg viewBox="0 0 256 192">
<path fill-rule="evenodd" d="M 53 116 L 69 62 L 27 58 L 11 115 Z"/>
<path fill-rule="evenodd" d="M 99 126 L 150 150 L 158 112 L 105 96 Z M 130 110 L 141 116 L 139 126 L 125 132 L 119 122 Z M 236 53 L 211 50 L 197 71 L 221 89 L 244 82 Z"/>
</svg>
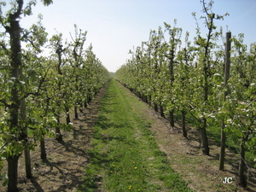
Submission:
<svg viewBox="0 0 256 192">
<path fill-rule="evenodd" d="M 139 102 L 128 92 L 111 80 L 78 191 L 192 191 L 159 150 L 150 122 L 132 110 L 131 102 Z"/>
</svg>

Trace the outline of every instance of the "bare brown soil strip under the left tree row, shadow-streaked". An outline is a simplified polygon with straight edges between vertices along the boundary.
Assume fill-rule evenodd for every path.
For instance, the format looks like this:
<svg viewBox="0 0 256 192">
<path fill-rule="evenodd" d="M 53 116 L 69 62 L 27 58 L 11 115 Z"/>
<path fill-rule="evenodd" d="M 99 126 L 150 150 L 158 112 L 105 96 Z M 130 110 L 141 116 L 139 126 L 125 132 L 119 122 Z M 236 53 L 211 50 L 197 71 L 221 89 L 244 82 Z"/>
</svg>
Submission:
<svg viewBox="0 0 256 192">
<path fill-rule="evenodd" d="M 63 132 L 63 143 L 54 138 L 47 138 L 47 159 L 40 159 L 40 147 L 31 152 L 32 175 L 26 178 L 24 156 L 19 161 L 19 183 L 21 192 L 71 192 L 75 191 L 84 175 L 84 166 L 88 164 L 89 155 L 86 153 L 90 148 L 90 138 L 94 123 L 97 119 L 98 108 L 100 108 L 102 97 L 106 89 L 103 88 L 96 98 L 90 102 L 84 113 L 79 113 L 79 119 L 74 119 L 73 131 Z M 61 119 L 64 121 L 65 119 Z M 6 170 L 6 167 L 5 167 Z M 2 184 L 0 191 L 6 191 Z"/>
</svg>

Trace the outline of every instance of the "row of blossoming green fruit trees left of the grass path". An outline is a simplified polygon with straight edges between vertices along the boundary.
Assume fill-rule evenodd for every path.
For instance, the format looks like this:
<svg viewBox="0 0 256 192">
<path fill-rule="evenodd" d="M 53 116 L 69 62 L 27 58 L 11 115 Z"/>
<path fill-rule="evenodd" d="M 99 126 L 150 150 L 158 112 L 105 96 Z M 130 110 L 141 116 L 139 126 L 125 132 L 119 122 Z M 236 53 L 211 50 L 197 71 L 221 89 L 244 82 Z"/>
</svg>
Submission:
<svg viewBox="0 0 256 192">
<path fill-rule="evenodd" d="M 24 7 L 23 1 L 15 1 L 0 17 L 5 29 L 0 42 L 0 170 L 7 160 L 8 177 L 1 175 L 8 191 L 18 191 L 20 154 L 26 157 L 26 177 L 32 177 L 30 150 L 40 142 L 41 158 L 46 159 L 44 137 L 61 141 L 61 130 L 73 129 L 70 108 L 78 118 L 78 110 L 83 111 L 109 79 L 92 45 L 84 49 L 87 32 L 77 26 L 71 42 L 61 33 L 48 38 L 41 16 L 31 28 L 21 28 L 20 16 L 31 15 L 33 4 Z M 61 123 L 63 115 L 67 123 Z"/>
</svg>

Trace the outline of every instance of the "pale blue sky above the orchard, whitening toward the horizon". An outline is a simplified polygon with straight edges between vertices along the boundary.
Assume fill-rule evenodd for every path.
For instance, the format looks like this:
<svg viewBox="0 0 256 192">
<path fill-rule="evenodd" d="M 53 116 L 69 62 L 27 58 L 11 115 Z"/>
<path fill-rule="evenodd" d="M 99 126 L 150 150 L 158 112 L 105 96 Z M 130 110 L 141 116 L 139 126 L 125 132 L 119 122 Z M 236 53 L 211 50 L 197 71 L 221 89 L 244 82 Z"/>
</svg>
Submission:
<svg viewBox="0 0 256 192">
<path fill-rule="evenodd" d="M 214 2 L 214 13 L 230 13 L 217 23 L 223 26 L 224 32 L 228 26 L 232 35 L 245 33 L 247 44 L 256 42 L 256 0 Z M 173 25 L 173 20 L 177 19 L 177 26 L 183 28 L 183 34 L 189 31 L 193 40 L 196 25 L 191 13 L 194 11 L 199 18 L 200 0 L 54 0 L 45 8 L 38 0 L 33 15 L 22 19 L 22 26 L 28 27 L 36 22 L 40 13 L 44 15 L 43 24 L 49 36 L 55 34 L 56 29 L 70 40 L 69 32 L 73 33 L 73 24 L 77 24 L 80 29 L 88 31 L 85 47 L 92 43 L 102 64 L 108 71 L 115 72 L 131 57 L 129 49 L 147 41 L 150 30 L 164 26 L 163 22 Z"/>
</svg>

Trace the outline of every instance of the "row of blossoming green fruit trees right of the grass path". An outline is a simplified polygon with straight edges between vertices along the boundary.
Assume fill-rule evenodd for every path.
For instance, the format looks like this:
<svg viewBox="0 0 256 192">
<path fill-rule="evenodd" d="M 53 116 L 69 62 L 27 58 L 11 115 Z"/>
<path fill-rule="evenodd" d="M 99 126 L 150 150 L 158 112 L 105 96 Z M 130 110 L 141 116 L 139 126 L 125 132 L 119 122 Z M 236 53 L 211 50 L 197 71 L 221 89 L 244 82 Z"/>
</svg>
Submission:
<svg viewBox="0 0 256 192">
<path fill-rule="evenodd" d="M 150 32 L 148 41 L 130 51 L 131 59 L 119 68 L 114 78 L 162 116 L 168 116 L 172 126 L 174 114 L 180 114 L 184 137 L 188 137 L 185 119 L 187 116 L 193 119 L 201 131 L 204 154 L 210 154 L 207 132 L 218 126 L 218 132 L 223 131 L 222 150 L 225 137 L 240 145 L 239 183 L 246 186 L 245 150 L 253 154 L 256 146 L 256 44 L 247 49 L 243 34 L 219 44 L 223 36 L 216 30 L 214 20 L 224 17 L 209 14 L 212 5 L 202 3 L 206 37 L 198 27 L 194 43 L 189 41 L 189 32 L 182 40 L 183 30 L 177 27 L 177 21 L 173 26 L 165 23 L 164 28 Z M 232 46 L 225 54 L 228 41 Z M 225 74 L 226 60 L 230 61 L 230 73 Z M 225 83 L 227 74 L 229 79 Z"/>
</svg>

